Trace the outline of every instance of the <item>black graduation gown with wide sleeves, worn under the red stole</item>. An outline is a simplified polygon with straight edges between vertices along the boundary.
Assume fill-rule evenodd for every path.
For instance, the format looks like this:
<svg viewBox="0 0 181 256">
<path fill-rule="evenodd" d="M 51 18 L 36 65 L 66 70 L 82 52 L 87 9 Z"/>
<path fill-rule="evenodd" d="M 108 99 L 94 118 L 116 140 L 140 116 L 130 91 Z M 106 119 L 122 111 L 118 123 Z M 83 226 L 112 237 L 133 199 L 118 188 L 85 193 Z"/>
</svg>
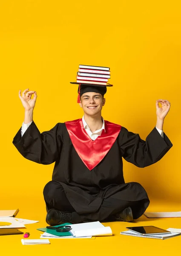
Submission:
<svg viewBox="0 0 181 256">
<path fill-rule="evenodd" d="M 133 192 L 129 190 L 130 183 L 125 184 L 122 157 L 143 168 L 156 163 L 172 147 L 166 134 L 162 138 L 156 128 L 153 128 L 144 141 L 139 134 L 121 127 L 112 148 L 90 171 L 75 151 L 65 123 L 57 123 L 50 131 L 40 134 L 32 122 L 23 137 L 20 130 L 13 140 L 17 150 L 23 157 L 36 163 L 55 162 L 52 180 L 63 186 L 66 197 L 78 214 L 98 211 L 103 198 L 116 196 L 120 191 L 122 193 L 119 193 L 119 197 L 121 195 L 122 200 L 149 201 L 142 186 Z"/>
</svg>

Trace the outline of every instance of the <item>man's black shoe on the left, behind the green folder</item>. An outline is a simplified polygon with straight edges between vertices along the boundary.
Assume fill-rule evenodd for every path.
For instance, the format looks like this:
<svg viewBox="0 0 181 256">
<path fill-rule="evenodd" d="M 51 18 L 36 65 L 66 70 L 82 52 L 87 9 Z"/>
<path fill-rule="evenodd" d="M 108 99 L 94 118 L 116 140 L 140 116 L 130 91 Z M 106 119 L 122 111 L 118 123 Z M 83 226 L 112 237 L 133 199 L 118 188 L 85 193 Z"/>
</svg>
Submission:
<svg viewBox="0 0 181 256">
<path fill-rule="evenodd" d="M 72 223 L 72 214 L 70 212 L 60 212 L 55 209 L 49 209 L 46 214 L 46 223 L 51 226 L 55 226 L 65 222 Z"/>
</svg>

